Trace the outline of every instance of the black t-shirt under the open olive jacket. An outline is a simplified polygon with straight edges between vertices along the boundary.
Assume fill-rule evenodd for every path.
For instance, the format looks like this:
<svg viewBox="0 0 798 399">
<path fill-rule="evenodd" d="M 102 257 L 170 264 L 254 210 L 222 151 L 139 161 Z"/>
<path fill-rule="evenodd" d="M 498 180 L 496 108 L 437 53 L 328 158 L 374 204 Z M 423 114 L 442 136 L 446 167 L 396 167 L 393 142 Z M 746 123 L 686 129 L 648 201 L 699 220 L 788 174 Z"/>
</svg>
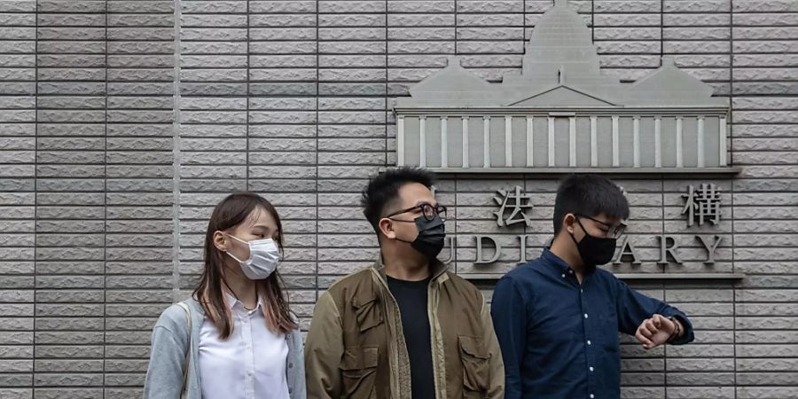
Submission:
<svg viewBox="0 0 798 399">
<path fill-rule="evenodd" d="M 413 399 L 435 398 L 432 338 L 426 310 L 429 281 L 429 278 L 421 281 L 387 278 L 388 288 L 394 294 L 402 314 L 404 341 L 410 356 Z"/>
</svg>

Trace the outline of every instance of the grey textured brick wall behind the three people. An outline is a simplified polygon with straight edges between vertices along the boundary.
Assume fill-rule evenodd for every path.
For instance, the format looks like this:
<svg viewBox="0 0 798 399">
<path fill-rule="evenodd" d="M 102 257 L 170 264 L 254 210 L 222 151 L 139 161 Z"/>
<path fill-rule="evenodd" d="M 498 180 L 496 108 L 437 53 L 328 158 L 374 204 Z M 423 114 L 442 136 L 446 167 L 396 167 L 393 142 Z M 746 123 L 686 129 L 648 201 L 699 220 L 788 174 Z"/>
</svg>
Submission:
<svg viewBox="0 0 798 399">
<path fill-rule="evenodd" d="M 623 340 L 624 397 L 798 397 L 798 2 L 570 4 L 606 73 L 633 81 L 673 54 L 730 97 L 743 167 L 715 181 L 713 231 L 725 239 L 715 270 L 747 278 L 639 285 L 691 314 L 697 339 L 651 352 Z M 357 200 L 395 163 L 393 98 L 450 54 L 491 80 L 517 71 L 551 6 L 0 0 L 0 397 L 140 395 L 153 322 L 195 284 L 207 215 L 232 191 L 278 206 L 281 268 L 307 327 L 318 291 L 374 258 Z M 622 180 L 644 257 L 653 234 L 684 223 L 684 186 L 705 181 Z M 552 179 L 444 180 L 450 230 L 494 231 L 490 199 L 514 184 L 536 192 L 536 227 L 520 230 L 534 256 Z M 681 242 L 684 271 L 697 270 L 700 243 Z"/>
</svg>

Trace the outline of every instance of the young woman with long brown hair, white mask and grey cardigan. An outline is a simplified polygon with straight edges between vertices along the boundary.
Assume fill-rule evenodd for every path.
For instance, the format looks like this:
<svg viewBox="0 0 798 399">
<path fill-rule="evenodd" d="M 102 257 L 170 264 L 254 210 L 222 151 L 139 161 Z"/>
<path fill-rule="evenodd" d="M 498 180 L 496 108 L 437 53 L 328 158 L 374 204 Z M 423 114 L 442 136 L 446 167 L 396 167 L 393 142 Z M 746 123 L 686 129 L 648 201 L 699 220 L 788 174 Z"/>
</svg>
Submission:
<svg viewBox="0 0 798 399">
<path fill-rule="evenodd" d="M 302 341 L 278 275 L 275 207 L 240 192 L 216 205 L 192 298 L 153 328 L 145 398 L 304 399 Z"/>
</svg>

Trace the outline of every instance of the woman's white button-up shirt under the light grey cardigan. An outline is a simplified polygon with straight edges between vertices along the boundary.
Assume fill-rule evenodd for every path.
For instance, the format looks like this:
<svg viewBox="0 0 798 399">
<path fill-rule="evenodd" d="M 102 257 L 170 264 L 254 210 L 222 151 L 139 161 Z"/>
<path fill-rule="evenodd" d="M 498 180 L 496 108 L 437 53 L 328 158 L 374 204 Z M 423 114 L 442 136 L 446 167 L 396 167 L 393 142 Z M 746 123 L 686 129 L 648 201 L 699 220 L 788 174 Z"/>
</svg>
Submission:
<svg viewBox="0 0 798 399">
<path fill-rule="evenodd" d="M 233 332 L 220 340 L 216 326 L 205 319 L 200 327 L 200 386 L 203 399 L 288 399 L 286 335 L 271 332 L 262 300 L 254 310 L 232 295 L 225 300 L 233 317 Z"/>
</svg>

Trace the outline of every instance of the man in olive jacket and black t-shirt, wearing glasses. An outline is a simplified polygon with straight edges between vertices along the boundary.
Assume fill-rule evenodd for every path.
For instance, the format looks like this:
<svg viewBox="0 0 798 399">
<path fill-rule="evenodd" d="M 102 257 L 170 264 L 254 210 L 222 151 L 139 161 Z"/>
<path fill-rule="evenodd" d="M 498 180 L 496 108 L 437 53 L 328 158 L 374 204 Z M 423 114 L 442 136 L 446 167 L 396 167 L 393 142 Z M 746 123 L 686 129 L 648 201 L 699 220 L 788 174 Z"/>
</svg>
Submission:
<svg viewBox="0 0 798 399">
<path fill-rule="evenodd" d="M 305 344 L 308 397 L 502 398 L 489 307 L 437 260 L 446 207 L 424 169 L 375 177 L 363 192 L 380 256 L 318 299 Z"/>
</svg>

